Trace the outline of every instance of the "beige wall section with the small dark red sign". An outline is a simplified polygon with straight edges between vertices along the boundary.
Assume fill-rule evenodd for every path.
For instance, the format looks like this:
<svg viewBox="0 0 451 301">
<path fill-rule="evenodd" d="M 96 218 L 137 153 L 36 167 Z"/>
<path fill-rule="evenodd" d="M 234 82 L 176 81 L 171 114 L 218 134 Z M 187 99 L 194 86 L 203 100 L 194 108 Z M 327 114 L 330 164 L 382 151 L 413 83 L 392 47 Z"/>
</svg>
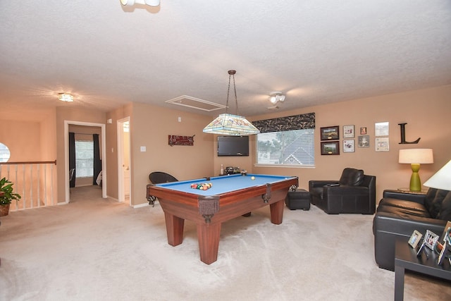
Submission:
<svg viewBox="0 0 451 301">
<path fill-rule="evenodd" d="M 181 122 L 178 122 L 178 118 Z M 146 202 L 149 173 L 164 171 L 178 180 L 214 174 L 213 137 L 202 132 L 211 117 L 147 104 L 133 104 L 130 122 L 132 204 Z M 193 146 L 168 145 L 168 135 L 193 136 Z M 140 147 L 146 152 L 140 152 Z"/>
</svg>

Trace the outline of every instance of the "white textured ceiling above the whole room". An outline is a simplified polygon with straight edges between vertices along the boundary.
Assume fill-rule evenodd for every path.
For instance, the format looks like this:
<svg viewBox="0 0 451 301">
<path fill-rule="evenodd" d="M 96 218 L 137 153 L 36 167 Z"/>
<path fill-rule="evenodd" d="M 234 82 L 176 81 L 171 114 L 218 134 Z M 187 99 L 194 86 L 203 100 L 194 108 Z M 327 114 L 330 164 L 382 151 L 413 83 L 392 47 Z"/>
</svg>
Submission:
<svg viewBox="0 0 451 301">
<path fill-rule="evenodd" d="M 229 69 L 244 116 L 270 112 L 272 91 L 283 111 L 451 84 L 449 0 L 0 1 L 0 24 L 13 118 L 127 102 L 193 111 L 166 103 L 181 96 L 224 105 Z"/>
</svg>

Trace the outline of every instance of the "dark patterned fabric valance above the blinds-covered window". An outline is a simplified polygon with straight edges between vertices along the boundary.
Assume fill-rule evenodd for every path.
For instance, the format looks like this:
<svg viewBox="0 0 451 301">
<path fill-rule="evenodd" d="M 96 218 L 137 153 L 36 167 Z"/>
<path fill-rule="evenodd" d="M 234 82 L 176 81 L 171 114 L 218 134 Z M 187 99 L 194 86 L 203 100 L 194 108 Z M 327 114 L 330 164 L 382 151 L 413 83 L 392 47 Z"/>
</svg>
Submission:
<svg viewBox="0 0 451 301">
<path fill-rule="evenodd" d="M 315 128 L 315 113 L 252 121 L 252 124 L 260 130 L 260 133 L 304 130 L 307 128 Z"/>
</svg>

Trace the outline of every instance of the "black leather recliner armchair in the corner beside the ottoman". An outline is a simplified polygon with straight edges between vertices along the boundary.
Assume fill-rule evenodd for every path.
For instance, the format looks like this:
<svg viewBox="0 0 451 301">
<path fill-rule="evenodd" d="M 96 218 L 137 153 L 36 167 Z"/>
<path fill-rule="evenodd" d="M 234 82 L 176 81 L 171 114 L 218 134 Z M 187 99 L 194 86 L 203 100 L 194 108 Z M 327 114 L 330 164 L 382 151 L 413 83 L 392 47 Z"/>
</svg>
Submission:
<svg viewBox="0 0 451 301">
<path fill-rule="evenodd" d="M 362 169 L 345 168 L 340 180 L 310 180 L 311 204 L 327 214 L 376 211 L 376 176 L 364 174 Z"/>
</svg>

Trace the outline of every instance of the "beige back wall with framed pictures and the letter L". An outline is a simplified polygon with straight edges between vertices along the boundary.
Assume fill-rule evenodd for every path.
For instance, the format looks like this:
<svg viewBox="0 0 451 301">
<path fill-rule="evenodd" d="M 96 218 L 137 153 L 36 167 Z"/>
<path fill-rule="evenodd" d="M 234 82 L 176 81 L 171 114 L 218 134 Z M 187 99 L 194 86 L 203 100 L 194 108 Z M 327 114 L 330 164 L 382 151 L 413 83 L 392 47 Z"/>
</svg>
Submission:
<svg viewBox="0 0 451 301">
<path fill-rule="evenodd" d="M 287 102 L 296 101 L 287 99 Z M 302 99 L 299 100 L 302 102 Z M 254 173 L 269 173 L 287 176 L 298 176 L 299 186 L 308 188 L 309 180 L 338 179 L 343 168 L 362 168 L 365 173 L 374 175 L 376 179 L 377 199 L 381 198 L 384 189 L 409 187 L 412 171 L 409 164 L 398 164 L 399 149 L 432 148 L 434 164 L 423 164 L 420 170 L 422 183 L 438 171 L 451 159 L 451 85 L 428 90 L 411 91 L 400 94 L 389 94 L 366 99 L 355 99 L 325 106 L 312 106 L 290 112 L 273 113 L 265 116 L 254 116 L 249 120 L 290 116 L 299 113 L 316 113 L 315 129 L 315 168 L 252 168 Z M 374 145 L 374 123 L 388 121 L 390 123 L 390 151 L 376 152 Z M 400 145 L 400 126 L 407 123 L 406 141 L 414 141 L 421 137 L 416 145 Z M 342 152 L 340 139 L 339 156 L 321 156 L 319 129 L 321 127 L 340 125 L 342 137 L 343 125 L 355 125 L 357 135 L 361 127 L 367 128 L 370 135 L 370 147 L 355 147 L 353 153 Z M 357 136 L 356 135 L 356 136 Z M 357 137 L 354 137 L 357 142 Z M 252 153 L 253 154 L 253 153 Z M 233 158 L 233 157 L 231 157 Z M 240 158 L 241 159 L 241 158 Z M 235 166 L 252 165 L 254 157 L 246 163 L 238 159 L 230 159 Z M 216 157 L 215 165 L 223 159 Z M 249 170 L 250 168 L 248 168 Z"/>
</svg>

